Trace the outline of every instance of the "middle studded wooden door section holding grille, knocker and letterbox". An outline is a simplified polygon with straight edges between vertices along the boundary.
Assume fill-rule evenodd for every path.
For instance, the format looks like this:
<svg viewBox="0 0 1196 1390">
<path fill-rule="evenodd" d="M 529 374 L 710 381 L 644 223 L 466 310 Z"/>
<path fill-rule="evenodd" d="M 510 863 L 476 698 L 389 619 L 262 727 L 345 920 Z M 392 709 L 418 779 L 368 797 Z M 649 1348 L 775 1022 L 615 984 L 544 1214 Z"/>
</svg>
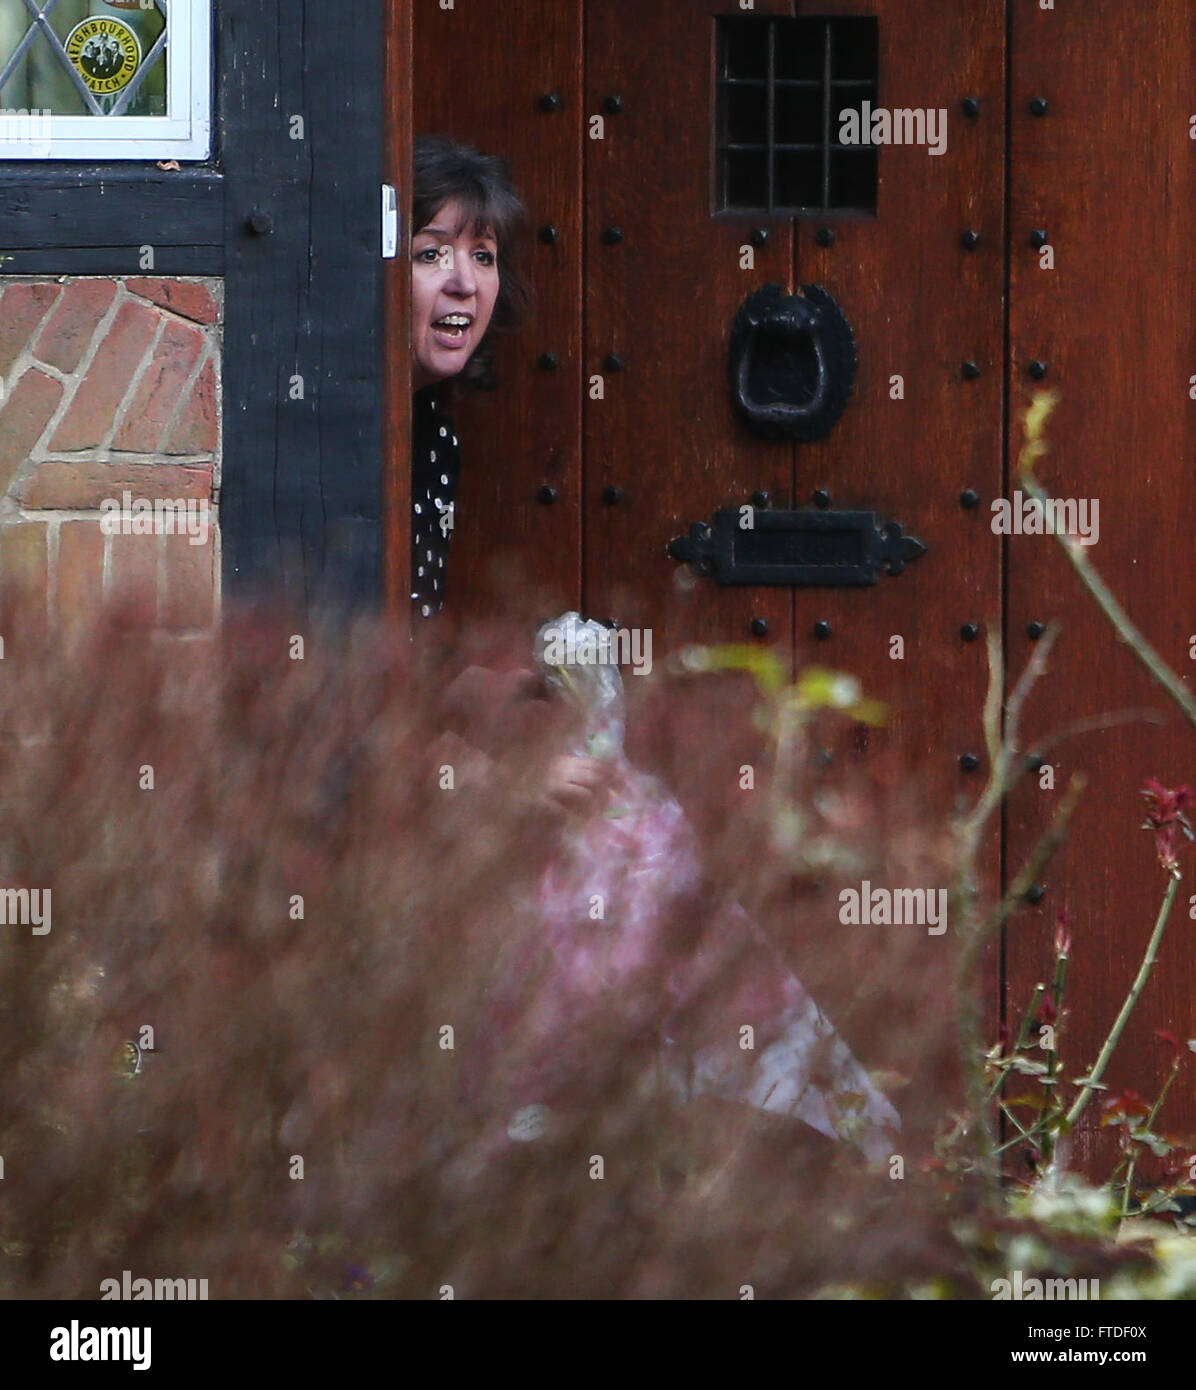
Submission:
<svg viewBox="0 0 1196 1390">
<path fill-rule="evenodd" d="M 923 778 L 933 816 L 944 796 L 979 790 L 958 758 L 983 752 L 985 644 L 960 631 L 999 623 L 1001 613 L 1000 541 L 960 496 L 971 488 L 987 503 L 1001 486 L 1004 6 L 940 6 L 933 43 L 905 4 L 818 7 L 878 17 L 879 103 L 948 113 L 944 154 L 880 150 L 875 217 L 825 220 L 711 214 L 713 21 L 730 8 L 626 3 L 587 15 L 587 108 L 599 111 L 612 93 L 623 99 L 606 138 L 587 145 L 587 371 L 599 371 L 608 353 L 624 359 L 606 378 L 606 399 L 584 407 L 587 602 L 624 623 L 649 623 L 662 646 L 752 641 L 751 620 L 765 619 L 763 641 L 786 651 L 791 639 L 795 664 L 857 674 L 890 702 L 893 727 L 866 742 L 844 731 L 837 756 L 890 746 Z M 980 101 L 979 120 L 964 114 L 968 96 Z M 740 247 L 757 227 L 769 235 L 745 271 Z M 823 227 L 834 231 L 830 246 L 819 245 Z M 980 231 L 975 250 L 961 243 L 968 227 Z M 605 240 L 608 228 L 622 240 Z M 818 443 L 763 441 L 732 407 L 732 321 L 768 282 L 825 286 L 857 335 L 855 395 Z M 962 373 L 971 360 L 980 367 L 975 379 Z M 613 506 L 602 505 L 608 486 L 623 491 Z M 929 552 L 905 574 L 859 589 L 720 588 L 679 575 L 665 555 L 690 523 L 748 502 L 755 489 L 773 505 L 805 507 L 816 488 L 834 507 L 904 521 Z M 829 623 L 829 639 L 814 637 L 819 621 Z M 893 637 L 904 641 L 900 660 Z M 738 746 L 723 753 L 729 777 L 751 760 Z M 985 851 L 990 891 L 999 848 L 994 827 Z M 858 1024 L 866 1033 L 854 995 L 891 955 L 868 929 L 844 933 L 823 908 L 807 902 L 795 915 L 791 949 L 847 1036 Z M 937 941 L 928 938 L 928 949 Z"/>
</svg>

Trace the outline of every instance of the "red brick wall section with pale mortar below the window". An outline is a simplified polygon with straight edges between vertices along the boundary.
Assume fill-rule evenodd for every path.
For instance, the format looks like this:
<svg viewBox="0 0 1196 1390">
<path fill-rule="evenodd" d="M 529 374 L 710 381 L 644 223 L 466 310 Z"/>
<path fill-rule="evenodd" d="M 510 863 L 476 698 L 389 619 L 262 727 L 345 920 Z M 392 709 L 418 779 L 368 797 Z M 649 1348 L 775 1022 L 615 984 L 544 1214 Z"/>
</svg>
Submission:
<svg viewBox="0 0 1196 1390">
<path fill-rule="evenodd" d="M 39 623 L 124 599 L 165 631 L 213 623 L 221 296 L 0 277 L 0 585 Z"/>
</svg>

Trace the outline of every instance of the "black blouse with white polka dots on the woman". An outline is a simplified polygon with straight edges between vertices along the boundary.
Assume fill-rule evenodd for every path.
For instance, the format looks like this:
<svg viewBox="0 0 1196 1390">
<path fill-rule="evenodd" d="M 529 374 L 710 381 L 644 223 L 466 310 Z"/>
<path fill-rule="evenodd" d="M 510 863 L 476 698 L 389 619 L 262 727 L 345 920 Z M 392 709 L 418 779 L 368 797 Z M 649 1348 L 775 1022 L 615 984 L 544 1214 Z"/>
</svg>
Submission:
<svg viewBox="0 0 1196 1390">
<path fill-rule="evenodd" d="M 437 386 L 417 391 L 412 403 L 412 607 L 433 617 L 444 607 L 460 457 Z"/>
</svg>

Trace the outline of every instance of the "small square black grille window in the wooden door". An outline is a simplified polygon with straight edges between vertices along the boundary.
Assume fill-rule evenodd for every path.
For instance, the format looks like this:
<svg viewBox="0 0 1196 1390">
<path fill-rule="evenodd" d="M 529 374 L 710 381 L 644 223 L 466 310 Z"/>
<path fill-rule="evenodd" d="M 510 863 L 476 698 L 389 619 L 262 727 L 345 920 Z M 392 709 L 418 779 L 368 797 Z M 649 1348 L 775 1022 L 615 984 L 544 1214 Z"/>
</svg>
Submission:
<svg viewBox="0 0 1196 1390">
<path fill-rule="evenodd" d="M 876 149 L 840 145 L 876 101 L 875 17 L 716 18 L 716 207 L 875 213 Z"/>
</svg>

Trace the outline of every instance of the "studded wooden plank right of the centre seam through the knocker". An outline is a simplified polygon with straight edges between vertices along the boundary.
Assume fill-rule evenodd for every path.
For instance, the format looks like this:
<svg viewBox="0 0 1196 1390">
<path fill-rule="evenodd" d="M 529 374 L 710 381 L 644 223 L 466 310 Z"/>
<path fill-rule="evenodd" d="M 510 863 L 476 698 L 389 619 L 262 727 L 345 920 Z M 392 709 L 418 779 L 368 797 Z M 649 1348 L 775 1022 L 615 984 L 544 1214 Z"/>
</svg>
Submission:
<svg viewBox="0 0 1196 1390">
<path fill-rule="evenodd" d="M 875 217 L 800 224 L 795 278 L 826 286 L 852 324 L 855 399 L 818 443 L 797 449 L 795 493 L 826 489 L 836 507 L 901 521 L 928 552 L 875 589 L 798 591 L 798 662 L 859 676 L 890 706 L 869 741 L 916 760 L 928 792 L 969 796 L 983 755 L 979 712 L 987 678 L 983 637 L 961 628 L 1000 620 L 1000 543 L 979 509 L 1001 481 L 1004 314 L 1004 7 L 939 4 L 928 21 L 891 0 L 840 3 L 833 14 L 879 21 L 876 104 L 946 111 L 946 152 L 879 149 Z M 979 115 L 964 114 L 967 97 Z M 833 227 L 834 240 L 818 234 Z M 979 232 L 964 249 L 965 231 Z M 972 361 L 979 375 L 964 375 Z M 898 398 L 898 399 L 894 399 Z M 815 624 L 832 637 L 815 637 Z M 894 638 L 904 656 L 894 659 Z M 982 771 L 979 773 L 982 774 Z"/>
</svg>

